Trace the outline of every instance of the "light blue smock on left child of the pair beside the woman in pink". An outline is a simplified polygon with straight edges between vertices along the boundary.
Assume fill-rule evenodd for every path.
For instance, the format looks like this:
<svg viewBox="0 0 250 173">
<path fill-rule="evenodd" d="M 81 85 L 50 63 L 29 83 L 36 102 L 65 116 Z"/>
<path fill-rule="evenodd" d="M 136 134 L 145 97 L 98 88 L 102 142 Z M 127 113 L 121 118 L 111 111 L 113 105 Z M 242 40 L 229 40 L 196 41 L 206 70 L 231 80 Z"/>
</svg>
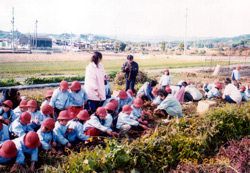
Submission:
<svg viewBox="0 0 250 173">
<path fill-rule="evenodd" d="M 62 92 L 60 88 L 57 88 L 54 90 L 53 95 L 51 97 L 50 103 L 53 108 L 57 108 L 60 110 L 65 109 L 66 107 L 69 107 L 70 105 L 70 94 L 67 91 Z"/>
</svg>

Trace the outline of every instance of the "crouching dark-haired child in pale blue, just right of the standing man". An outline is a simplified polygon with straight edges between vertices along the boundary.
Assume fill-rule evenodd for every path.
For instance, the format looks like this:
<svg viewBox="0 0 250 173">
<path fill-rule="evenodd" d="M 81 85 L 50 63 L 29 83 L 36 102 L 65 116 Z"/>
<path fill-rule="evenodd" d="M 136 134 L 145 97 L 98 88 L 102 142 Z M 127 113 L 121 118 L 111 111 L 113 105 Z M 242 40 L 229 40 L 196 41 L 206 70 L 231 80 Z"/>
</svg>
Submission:
<svg viewBox="0 0 250 173">
<path fill-rule="evenodd" d="M 140 97 L 142 100 L 153 100 L 151 92 L 155 86 L 156 81 L 154 80 L 144 83 L 144 85 L 139 89 L 137 97 Z"/>
</svg>

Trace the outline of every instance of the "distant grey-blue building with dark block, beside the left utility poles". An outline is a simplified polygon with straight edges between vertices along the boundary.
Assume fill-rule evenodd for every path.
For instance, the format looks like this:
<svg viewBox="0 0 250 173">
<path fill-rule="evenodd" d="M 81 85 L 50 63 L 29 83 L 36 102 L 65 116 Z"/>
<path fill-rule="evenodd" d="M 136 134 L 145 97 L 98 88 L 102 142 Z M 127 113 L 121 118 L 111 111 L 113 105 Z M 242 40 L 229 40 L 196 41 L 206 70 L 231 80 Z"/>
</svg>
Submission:
<svg viewBox="0 0 250 173">
<path fill-rule="evenodd" d="M 38 36 L 36 39 L 32 36 L 29 37 L 27 35 L 21 35 L 19 38 L 19 44 L 22 46 L 31 44 L 31 47 L 35 47 L 37 45 L 38 48 L 52 48 L 52 38 Z"/>
</svg>

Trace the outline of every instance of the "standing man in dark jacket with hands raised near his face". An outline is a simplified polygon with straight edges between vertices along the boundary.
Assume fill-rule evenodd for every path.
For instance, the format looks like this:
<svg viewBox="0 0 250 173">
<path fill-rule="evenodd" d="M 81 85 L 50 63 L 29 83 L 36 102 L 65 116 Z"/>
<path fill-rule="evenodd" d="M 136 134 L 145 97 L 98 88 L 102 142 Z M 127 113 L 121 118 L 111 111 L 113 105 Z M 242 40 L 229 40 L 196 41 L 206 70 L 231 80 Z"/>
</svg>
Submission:
<svg viewBox="0 0 250 173">
<path fill-rule="evenodd" d="M 131 89 L 135 93 L 135 80 L 139 71 L 139 66 L 133 61 L 134 57 L 132 55 L 127 56 L 127 62 L 123 64 L 122 72 L 126 73 L 126 91 Z"/>
</svg>

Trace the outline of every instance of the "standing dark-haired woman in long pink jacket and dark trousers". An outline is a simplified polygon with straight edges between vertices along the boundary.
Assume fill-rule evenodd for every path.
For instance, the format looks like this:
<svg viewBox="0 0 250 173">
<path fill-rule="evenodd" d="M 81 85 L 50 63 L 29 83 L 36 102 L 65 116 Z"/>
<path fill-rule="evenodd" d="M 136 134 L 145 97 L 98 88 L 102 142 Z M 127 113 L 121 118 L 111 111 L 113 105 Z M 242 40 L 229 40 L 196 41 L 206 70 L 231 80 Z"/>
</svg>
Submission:
<svg viewBox="0 0 250 173">
<path fill-rule="evenodd" d="M 102 54 L 94 52 L 85 73 L 85 90 L 88 95 L 87 107 L 93 112 L 106 100 L 104 85 L 105 71 L 101 61 Z"/>
</svg>

